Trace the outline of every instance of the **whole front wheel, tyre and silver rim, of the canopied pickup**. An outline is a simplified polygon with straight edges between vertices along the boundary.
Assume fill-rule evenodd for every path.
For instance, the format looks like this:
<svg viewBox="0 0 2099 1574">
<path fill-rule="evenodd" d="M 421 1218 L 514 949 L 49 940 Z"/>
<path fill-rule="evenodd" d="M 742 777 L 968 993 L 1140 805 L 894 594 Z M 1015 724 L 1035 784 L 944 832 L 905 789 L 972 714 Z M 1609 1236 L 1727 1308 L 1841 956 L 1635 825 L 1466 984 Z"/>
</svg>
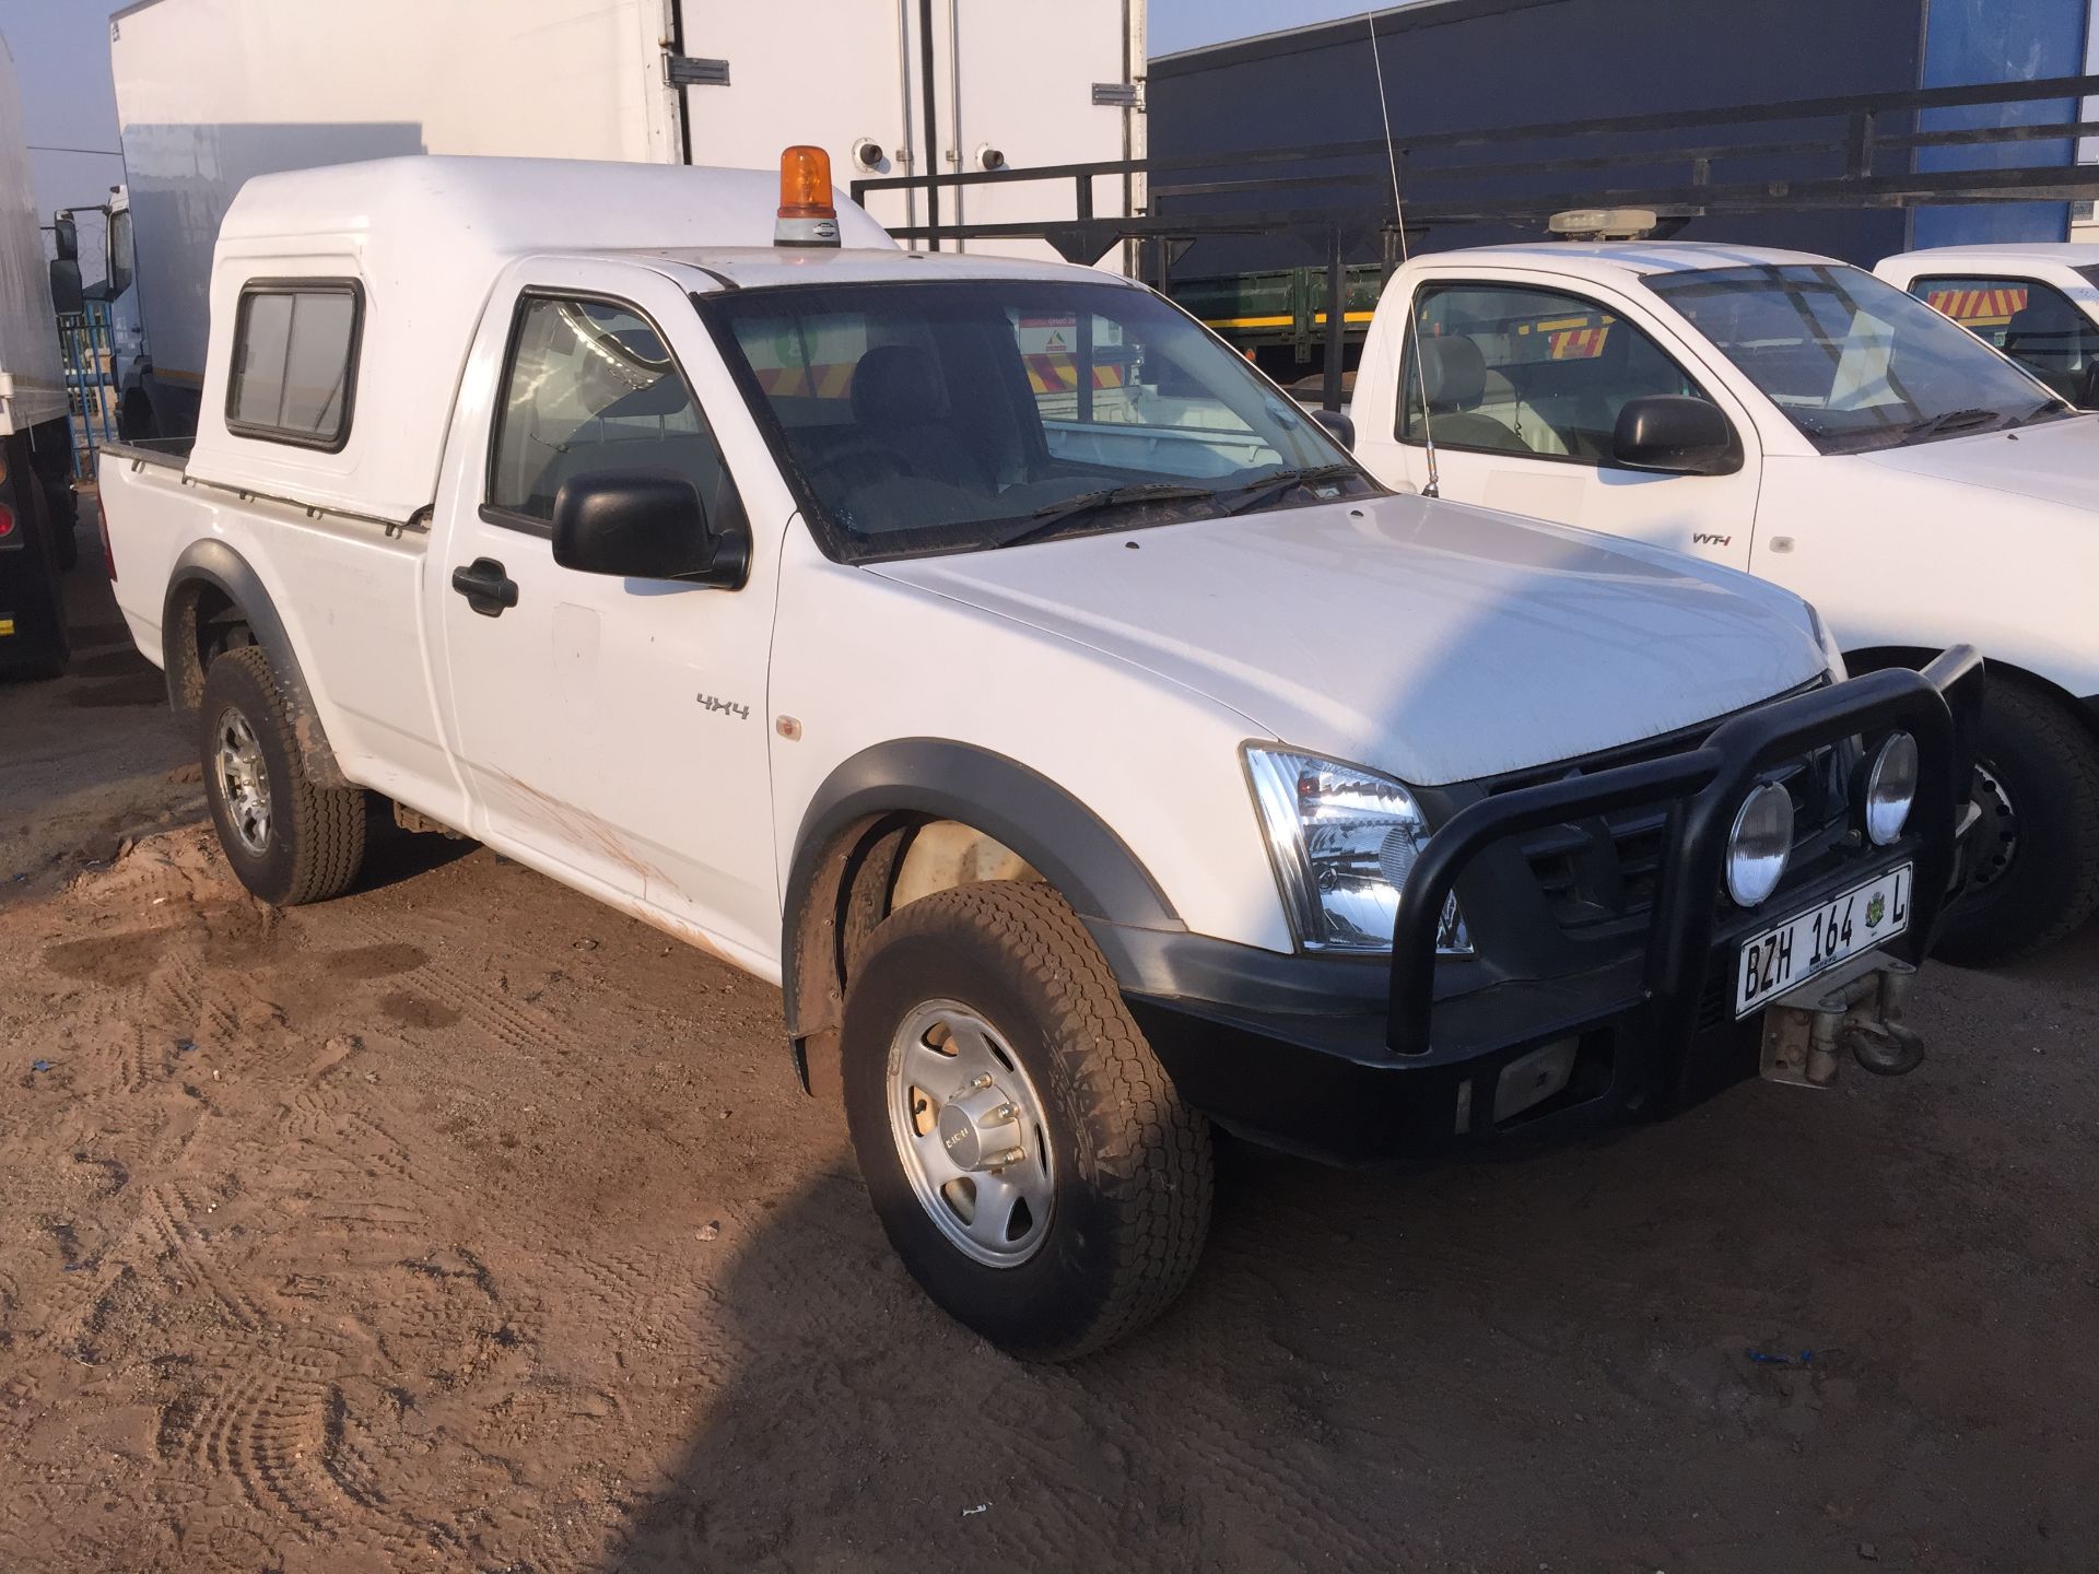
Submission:
<svg viewBox="0 0 2099 1574">
<path fill-rule="evenodd" d="M 1070 1360 L 1180 1295 L 1209 1230 L 1209 1123 L 1054 892 L 987 881 L 892 913 L 842 1049 L 869 1198 L 953 1318 Z"/>
</svg>

